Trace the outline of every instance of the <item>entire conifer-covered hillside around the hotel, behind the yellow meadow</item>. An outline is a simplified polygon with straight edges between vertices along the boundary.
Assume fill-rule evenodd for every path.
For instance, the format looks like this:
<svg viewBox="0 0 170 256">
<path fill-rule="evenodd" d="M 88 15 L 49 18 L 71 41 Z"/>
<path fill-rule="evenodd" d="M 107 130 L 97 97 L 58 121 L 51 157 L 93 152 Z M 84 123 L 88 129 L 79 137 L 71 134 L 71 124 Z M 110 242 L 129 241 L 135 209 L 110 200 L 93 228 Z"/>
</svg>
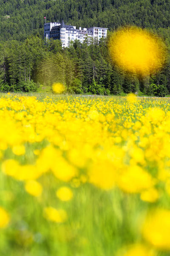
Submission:
<svg viewBox="0 0 170 256">
<path fill-rule="evenodd" d="M 0 0 L 1 91 L 40 90 L 57 81 L 69 93 L 170 94 L 169 58 L 159 73 L 141 81 L 113 65 L 108 38 L 90 46 L 74 42 L 66 49 L 59 41 L 45 44 L 44 16 L 47 22 L 107 27 L 108 37 L 120 26 L 136 25 L 157 33 L 170 49 L 168 0 Z"/>
</svg>

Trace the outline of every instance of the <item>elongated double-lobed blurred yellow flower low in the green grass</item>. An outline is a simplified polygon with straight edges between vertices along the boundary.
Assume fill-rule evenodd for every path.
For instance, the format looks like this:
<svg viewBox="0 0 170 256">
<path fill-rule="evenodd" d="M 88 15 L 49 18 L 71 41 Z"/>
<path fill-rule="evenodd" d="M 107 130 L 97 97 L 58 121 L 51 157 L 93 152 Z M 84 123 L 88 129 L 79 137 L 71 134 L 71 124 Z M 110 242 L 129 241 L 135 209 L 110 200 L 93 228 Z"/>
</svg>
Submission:
<svg viewBox="0 0 170 256">
<path fill-rule="evenodd" d="M 63 209 L 55 209 L 53 207 L 44 208 L 44 217 L 49 221 L 54 221 L 57 223 L 65 222 L 68 218 L 67 212 Z"/>
</svg>

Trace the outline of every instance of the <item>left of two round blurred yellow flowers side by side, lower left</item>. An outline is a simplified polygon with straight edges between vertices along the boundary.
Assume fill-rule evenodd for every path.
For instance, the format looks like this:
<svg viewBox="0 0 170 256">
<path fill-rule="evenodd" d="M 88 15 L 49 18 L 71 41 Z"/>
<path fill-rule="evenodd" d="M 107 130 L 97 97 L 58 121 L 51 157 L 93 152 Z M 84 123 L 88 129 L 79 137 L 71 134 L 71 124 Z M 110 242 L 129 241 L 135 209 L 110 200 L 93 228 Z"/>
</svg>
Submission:
<svg viewBox="0 0 170 256">
<path fill-rule="evenodd" d="M 26 192 L 34 196 L 40 196 L 42 194 L 42 186 L 36 180 L 28 180 L 25 184 Z"/>
</svg>

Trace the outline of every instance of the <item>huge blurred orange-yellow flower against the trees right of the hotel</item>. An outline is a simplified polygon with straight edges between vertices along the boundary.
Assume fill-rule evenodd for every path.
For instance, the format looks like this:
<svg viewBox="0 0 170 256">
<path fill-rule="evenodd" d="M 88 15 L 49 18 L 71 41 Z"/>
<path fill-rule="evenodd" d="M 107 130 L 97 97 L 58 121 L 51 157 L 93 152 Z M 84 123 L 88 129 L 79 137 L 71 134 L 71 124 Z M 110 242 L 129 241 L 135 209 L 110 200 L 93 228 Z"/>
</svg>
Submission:
<svg viewBox="0 0 170 256">
<path fill-rule="evenodd" d="M 109 51 L 116 64 L 139 74 L 156 72 L 166 58 L 164 43 L 156 35 L 138 27 L 126 27 L 113 33 Z"/>
</svg>

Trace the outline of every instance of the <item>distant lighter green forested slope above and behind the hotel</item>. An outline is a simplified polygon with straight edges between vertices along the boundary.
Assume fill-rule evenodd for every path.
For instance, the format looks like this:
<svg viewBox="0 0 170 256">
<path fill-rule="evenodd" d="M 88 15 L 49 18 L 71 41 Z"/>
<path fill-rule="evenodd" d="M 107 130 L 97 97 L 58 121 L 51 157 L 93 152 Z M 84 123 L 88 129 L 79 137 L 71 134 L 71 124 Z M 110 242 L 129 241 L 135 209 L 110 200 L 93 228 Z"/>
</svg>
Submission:
<svg viewBox="0 0 170 256">
<path fill-rule="evenodd" d="M 127 24 L 142 28 L 168 28 L 168 0 L 1 0 L 0 38 L 23 40 L 43 35 L 43 17 L 75 26 L 102 26 L 110 30 Z"/>
</svg>

